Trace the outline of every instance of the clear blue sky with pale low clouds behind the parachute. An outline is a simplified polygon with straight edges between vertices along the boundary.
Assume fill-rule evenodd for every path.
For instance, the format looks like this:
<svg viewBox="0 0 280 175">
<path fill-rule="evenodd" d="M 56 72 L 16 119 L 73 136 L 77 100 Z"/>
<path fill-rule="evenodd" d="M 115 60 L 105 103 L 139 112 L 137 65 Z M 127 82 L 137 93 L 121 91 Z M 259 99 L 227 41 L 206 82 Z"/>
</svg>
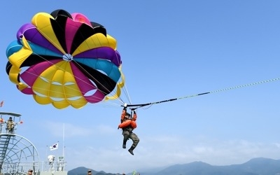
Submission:
<svg viewBox="0 0 280 175">
<path fill-rule="evenodd" d="M 1 111 L 22 114 L 18 133 L 67 169 L 105 172 L 184 164 L 279 159 L 279 81 L 146 106 L 137 111 L 134 156 L 117 130 L 121 103 L 55 109 L 19 92 L 6 75 L 6 47 L 38 12 L 83 13 L 116 38 L 128 104 L 158 102 L 279 78 L 280 1 L 1 2 Z M 128 95 L 125 95 L 128 94 Z M 130 97 L 130 98 L 128 98 Z M 63 136 L 64 126 L 64 136 Z M 59 149 L 47 146 L 59 141 Z M 132 144 L 128 142 L 128 146 Z M 127 146 L 127 147 L 128 147 Z"/>
</svg>

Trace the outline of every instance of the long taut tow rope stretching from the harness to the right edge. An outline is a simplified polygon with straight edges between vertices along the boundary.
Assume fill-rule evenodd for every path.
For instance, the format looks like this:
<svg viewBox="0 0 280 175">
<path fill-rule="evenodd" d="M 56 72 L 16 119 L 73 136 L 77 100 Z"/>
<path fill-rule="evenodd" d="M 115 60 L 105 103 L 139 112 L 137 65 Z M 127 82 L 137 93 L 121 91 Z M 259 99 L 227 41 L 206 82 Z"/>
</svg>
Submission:
<svg viewBox="0 0 280 175">
<path fill-rule="evenodd" d="M 146 104 L 127 104 L 127 107 L 134 107 L 133 109 L 135 110 L 135 109 L 138 109 L 138 108 L 141 108 L 141 107 L 144 107 L 144 106 L 148 106 L 148 105 L 160 104 L 160 103 L 164 103 L 164 102 L 172 102 L 172 101 L 177 100 L 177 99 L 186 99 L 186 98 L 190 98 L 190 97 L 197 97 L 197 96 L 200 96 L 200 95 L 203 95 L 203 94 L 211 94 L 211 93 L 215 93 L 215 92 L 223 92 L 225 90 L 234 90 L 234 89 L 241 88 L 241 87 L 248 87 L 248 86 L 251 86 L 251 85 L 258 85 L 258 84 L 262 84 L 262 83 L 269 83 L 269 82 L 276 81 L 276 80 L 280 80 L 280 78 L 273 78 L 273 79 L 270 79 L 270 80 L 262 80 L 262 81 L 259 81 L 259 82 L 256 82 L 256 83 L 248 83 L 246 85 L 237 85 L 235 87 L 228 87 L 228 88 L 225 88 L 225 89 L 214 90 L 214 91 L 204 92 L 204 93 L 200 93 L 200 94 L 192 94 L 192 95 L 188 95 L 188 96 L 185 96 L 185 97 L 179 97 L 179 98 L 174 98 L 174 99 L 167 99 L 167 100 L 163 100 L 163 101 L 159 101 L 159 102 L 151 102 L 151 103 L 146 103 Z"/>
</svg>

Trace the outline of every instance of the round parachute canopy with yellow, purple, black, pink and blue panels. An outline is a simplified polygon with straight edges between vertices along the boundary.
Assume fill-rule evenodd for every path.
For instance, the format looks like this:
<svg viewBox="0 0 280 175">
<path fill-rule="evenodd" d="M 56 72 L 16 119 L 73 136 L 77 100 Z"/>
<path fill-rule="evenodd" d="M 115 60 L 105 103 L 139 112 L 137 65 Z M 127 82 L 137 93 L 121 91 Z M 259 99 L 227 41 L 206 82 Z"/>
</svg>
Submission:
<svg viewBox="0 0 280 175">
<path fill-rule="evenodd" d="M 124 85 L 116 39 L 81 13 L 37 13 L 6 55 L 6 72 L 18 90 L 57 109 L 116 99 Z"/>
</svg>

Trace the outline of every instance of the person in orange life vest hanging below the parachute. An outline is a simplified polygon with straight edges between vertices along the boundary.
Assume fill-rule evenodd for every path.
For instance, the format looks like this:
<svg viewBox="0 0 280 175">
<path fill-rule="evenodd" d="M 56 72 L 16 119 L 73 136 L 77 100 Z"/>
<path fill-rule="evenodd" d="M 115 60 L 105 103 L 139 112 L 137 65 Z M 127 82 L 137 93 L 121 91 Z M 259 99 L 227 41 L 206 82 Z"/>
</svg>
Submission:
<svg viewBox="0 0 280 175">
<path fill-rule="evenodd" d="M 127 140 L 132 139 L 133 143 L 128 152 L 134 155 L 133 150 L 137 147 L 140 139 L 137 137 L 137 134 L 132 132 L 137 127 L 137 114 L 132 109 L 133 117 L 130 117 L 130 113 L 127 113 L 127 104 L 124 105 L 123 112 L 120 116 L 120 125 L 118 125 L 118 129 L 121 128 L 123 130 L 123 148 L 126 148 Z"/>
</svg>

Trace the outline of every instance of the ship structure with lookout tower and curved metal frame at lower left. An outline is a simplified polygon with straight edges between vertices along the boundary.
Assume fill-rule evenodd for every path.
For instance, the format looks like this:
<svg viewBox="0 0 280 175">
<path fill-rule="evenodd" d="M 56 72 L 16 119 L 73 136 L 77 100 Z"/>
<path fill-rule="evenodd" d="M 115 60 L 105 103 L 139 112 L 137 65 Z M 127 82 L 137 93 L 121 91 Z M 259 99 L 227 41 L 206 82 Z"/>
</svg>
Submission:
<svg viewBox="0 0 280 175">
<path fill-rule="evenodd" d="M 34 144 L 17 134 L 21 114 L 0 112 L 0 175 L 67 175 L 64 156 L 48 155 L 41 161 Z"/>
</svg>

